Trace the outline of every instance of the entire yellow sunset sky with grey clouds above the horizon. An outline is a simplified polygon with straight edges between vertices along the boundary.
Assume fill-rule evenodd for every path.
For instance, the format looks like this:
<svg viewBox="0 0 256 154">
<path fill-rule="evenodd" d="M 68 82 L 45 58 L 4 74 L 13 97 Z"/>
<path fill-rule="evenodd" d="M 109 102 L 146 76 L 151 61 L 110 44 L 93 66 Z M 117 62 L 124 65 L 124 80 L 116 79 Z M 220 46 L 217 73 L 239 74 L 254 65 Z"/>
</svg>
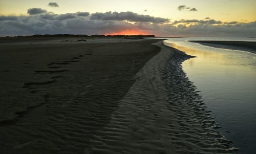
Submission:
<svg viewBox="0 0 256 154">
<path fill-rule="evenodd" d="M 0 36 L 256 36 L 255 0 L 0 0 Z"/>
</svg>

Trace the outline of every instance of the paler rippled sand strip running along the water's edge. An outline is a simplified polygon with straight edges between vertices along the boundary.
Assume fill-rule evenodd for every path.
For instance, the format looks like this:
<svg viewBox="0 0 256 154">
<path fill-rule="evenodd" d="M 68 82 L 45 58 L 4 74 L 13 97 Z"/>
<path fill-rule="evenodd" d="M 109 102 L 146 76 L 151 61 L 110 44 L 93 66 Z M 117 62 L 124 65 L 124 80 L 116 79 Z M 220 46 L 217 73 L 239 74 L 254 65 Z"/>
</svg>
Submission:
<svg viewBox="0 0 256 154">
<path fill-rule="evenodd" d="M 194 56 L 163 45 L 136 74 L 136 82 L 119 100 L 103 138 L 86 153 L 234 153 L 238 148 L 217 131 L 200 92 L 181 62 Z"/>
</svg>

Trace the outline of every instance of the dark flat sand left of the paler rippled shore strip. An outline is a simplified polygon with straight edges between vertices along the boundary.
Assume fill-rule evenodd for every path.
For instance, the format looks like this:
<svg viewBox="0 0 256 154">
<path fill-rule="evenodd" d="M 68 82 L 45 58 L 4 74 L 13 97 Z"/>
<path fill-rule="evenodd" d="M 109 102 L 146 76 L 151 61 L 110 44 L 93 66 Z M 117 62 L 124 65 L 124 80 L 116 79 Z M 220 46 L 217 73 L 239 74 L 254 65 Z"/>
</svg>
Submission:
<svg viewBox="0 0 256 154">
<path fill-rule="evenodd" d="M 160 50 L 157 40 L 116 41 L 0 45 L 1 153 L 80 153 L 91 144 Z"/>
</svg>

